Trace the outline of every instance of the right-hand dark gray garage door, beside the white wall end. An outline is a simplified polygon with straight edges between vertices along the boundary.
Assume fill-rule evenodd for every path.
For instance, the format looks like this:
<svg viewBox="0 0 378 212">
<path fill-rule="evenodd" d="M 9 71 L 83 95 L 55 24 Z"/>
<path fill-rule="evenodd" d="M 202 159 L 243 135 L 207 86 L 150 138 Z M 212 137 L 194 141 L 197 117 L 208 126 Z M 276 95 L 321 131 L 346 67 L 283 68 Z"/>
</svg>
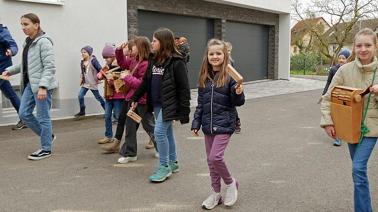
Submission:
<svg viewBox="0 0 378 212">
<path fill-rule="evenodd" d="M 245 81 L 268 78 L 268 26 L 227 21 L 226 40 Z"/>
</svg>

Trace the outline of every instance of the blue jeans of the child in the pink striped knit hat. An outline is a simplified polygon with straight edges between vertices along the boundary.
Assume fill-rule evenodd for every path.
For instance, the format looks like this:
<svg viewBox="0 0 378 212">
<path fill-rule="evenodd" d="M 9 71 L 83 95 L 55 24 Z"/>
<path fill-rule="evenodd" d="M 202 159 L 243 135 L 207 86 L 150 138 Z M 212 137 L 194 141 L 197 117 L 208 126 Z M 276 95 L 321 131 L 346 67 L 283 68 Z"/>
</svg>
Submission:
<svg viewBox="0 0 378 212">
<path fill-rule="evenodd" d="M 114 115 L 116 119 L 118 119 L 124 100 L 125 99 L 110 99 L 105 101 L 105 136 L 108 138 L 113 137 L 112 111 L 114 110 Z"/>
</svg>

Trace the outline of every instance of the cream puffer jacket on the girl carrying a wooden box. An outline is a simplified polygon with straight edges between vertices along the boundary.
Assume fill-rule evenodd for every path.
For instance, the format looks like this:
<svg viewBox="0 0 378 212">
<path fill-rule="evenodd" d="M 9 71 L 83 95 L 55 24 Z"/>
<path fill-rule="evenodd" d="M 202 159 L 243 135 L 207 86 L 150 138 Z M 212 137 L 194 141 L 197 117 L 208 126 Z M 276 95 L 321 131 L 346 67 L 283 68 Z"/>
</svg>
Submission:
<svg viewBox="0 0 378 212">
<path fill-rule="evenodd" d="M 368 65 L 362 65 L 358 57 L 354 61 L 349 62 L 339 68 L 332 79 L 327 93 L 323 96 L 321 102 L 322 117 L 320 120 L 320 127 L 333 126 L 331 118 L 331 88 L 337 85 L 345 85 L 348 87 L 355 87 L 366 89 L 372 84 L 374 70 L 378 68 L 377 57 L 374 56 L 373 62 Z M 378 83 L 378 70 L 373 85 Z M 363 98 L 363 113 L 367 105 L 369 95 Z M 366 137 L 378 137 L 378 97 L 374 94 L 370 97 L 370 104 L 364 125 L 370 129 L 370 132 L 365 134 Z"/>
</svg>

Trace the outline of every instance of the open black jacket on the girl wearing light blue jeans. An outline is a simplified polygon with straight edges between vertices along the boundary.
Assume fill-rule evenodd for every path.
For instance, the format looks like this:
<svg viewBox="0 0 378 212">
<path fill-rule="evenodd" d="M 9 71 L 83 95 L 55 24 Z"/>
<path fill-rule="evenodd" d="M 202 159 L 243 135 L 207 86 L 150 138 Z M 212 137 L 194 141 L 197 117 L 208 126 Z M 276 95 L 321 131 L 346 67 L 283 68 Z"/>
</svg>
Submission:
<svg viewBox="0 0 378 212">
<path fill-rule="evenodd" d="M 151 98 L 153 55 L 154 53 L 149 54 L 146 74 L 130 100 L 131 102 L 138 102 L 147 92 L 146 103 L 149 112 L 154 110 Z M 165 63 L 167 65 L 161 79 L 160 90 L 163 121 L 179 119 L 181 124 L 187 124 L 189 123 L 190 113 L 190 89 L 185 60 L 181 55 L 173 53 L 172 57 Z"/>
</svg>

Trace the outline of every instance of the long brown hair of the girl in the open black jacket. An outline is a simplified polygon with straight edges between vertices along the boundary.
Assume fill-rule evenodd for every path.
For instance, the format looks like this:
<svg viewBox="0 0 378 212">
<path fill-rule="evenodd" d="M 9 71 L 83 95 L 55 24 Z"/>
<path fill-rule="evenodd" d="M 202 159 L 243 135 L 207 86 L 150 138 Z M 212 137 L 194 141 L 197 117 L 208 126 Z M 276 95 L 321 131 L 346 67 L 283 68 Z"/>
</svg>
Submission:
<svg viewBox="0 0 378 212">
<path fill-rule="evenodd" d="M 153 60 L 157 60 L 159 65 L 164 64 L 165 60 L 170 58 L 173 53 L 181 55 L 177 50 L 175 38 L 171 30 L 158 28 L 154 32 L 154 37 L 160 42 L 160 49 L 153 57 Z"/>
</svg>

